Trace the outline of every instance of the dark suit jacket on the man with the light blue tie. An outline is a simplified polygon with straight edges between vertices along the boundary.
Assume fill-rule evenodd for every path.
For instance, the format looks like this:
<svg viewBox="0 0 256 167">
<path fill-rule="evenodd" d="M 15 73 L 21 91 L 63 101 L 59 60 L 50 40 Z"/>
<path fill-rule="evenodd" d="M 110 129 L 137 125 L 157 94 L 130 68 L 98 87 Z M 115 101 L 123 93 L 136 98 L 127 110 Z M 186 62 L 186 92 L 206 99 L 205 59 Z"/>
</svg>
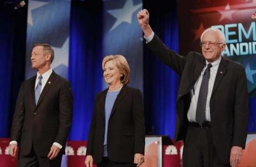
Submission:
<svg viewBox="0 0 256 167">
<path fill-rule="evenodd" d="M 33 143 L 37 155 L 47 156 L 54 142 L 63 146 L 61 154 L 65 154 L 73 113 L 70 83 L 52 72 L 36 105 L 35 82 L 36 76 L 21 85 L 10 140 L 18 142 L 21 155 L 29 154 Z"/>
</svg>

